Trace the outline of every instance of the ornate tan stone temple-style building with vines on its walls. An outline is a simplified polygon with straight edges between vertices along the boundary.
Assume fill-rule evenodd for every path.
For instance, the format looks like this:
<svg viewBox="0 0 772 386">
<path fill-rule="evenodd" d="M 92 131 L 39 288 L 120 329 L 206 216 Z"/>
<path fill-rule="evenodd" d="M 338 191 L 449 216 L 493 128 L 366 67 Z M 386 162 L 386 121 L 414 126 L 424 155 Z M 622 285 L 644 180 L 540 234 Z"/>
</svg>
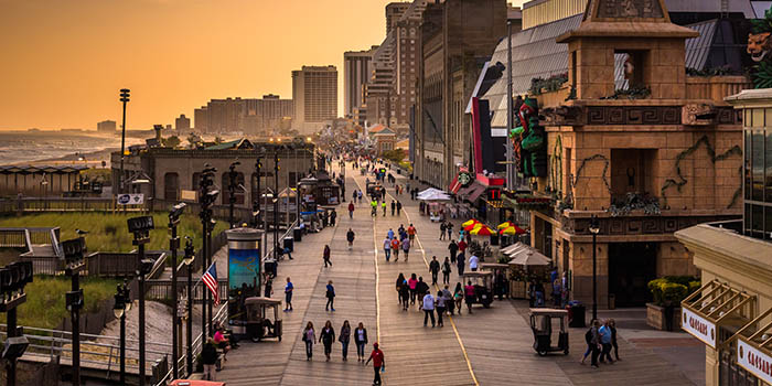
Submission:
<svg viewBox="0 0 772 386">
<path fill-rule="evenodd" d="M 591 302 L 591 217 L 599 305 L 641 305 L 648 280 L 695 275 L 674 232 L 737 218 L 741 207 L 741 117 L 722 99 L 743 76 L 686 75 L 685 41 L 663 0 L 592 0 L 568 45 L 568 82 L 537 96 L 547 176 L 532 212 L 532 245 L 568 274 L 572 298 Z M 623 73 L 618 82 L 615 73 Z"/>
</svg>

